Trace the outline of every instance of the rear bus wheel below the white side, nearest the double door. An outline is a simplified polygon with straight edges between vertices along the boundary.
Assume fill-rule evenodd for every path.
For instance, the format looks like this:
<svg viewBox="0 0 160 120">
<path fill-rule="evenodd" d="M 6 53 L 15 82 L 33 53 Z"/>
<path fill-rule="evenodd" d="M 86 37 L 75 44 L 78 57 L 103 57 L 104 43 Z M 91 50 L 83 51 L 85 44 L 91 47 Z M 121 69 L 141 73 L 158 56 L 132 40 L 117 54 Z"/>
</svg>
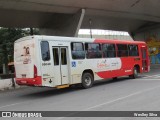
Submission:
<svg viewBox="0 0 160 120">
<path fill-rule="evenodd" d="M 87 89 L 93 85 L 93 76 L 90 73 L 84 73 L 82 76 L 82 87 Z"/>
</svg>

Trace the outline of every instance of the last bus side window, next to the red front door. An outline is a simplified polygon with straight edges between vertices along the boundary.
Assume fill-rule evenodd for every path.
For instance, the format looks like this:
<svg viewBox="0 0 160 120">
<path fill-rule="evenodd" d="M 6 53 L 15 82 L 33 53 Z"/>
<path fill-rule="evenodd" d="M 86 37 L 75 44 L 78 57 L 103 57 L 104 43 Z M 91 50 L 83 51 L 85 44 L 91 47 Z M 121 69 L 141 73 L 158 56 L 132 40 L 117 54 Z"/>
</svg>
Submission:
<svg viewBox="0 0 160 120">
<path fill-rule="evenodd" d="M 128 45 L 129 56 L 139 56 L 137 45 Z"/>
</svg>

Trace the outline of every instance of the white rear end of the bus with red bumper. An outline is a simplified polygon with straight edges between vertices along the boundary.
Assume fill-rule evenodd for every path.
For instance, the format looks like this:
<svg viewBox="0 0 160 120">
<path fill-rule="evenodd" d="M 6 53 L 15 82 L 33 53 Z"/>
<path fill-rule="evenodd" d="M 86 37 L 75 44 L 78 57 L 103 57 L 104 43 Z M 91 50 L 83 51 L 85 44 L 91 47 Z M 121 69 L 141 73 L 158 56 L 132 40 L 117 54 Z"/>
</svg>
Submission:
<svg viewBox="0 0 160 120">
<path fill-rule="evenodd" d="M 35 47 L 34 37 L 21 38 L 14 44 L 15 79 L 19 85 L 42 85 L 37 76 Z"/>
</svg>

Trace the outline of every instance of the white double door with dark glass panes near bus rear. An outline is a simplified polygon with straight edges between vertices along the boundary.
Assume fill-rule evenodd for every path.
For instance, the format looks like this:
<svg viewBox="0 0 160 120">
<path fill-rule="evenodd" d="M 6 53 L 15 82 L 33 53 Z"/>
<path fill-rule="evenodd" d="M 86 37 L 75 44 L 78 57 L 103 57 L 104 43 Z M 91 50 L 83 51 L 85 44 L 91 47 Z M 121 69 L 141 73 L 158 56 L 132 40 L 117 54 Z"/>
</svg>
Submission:
<svg viewBox="0 0 160 120">
<path fill-rule="evenodd" d="M 69 84 L 67 47 L 52 47 L 55 85 Z"/>
</svg>

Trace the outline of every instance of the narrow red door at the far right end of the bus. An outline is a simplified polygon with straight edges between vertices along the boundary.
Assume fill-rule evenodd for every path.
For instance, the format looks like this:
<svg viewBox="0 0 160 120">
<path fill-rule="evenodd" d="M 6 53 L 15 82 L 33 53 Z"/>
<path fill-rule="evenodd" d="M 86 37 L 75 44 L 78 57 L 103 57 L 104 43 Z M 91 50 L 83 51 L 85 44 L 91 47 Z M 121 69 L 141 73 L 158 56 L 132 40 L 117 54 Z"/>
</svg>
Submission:
<svg viewBox="0 0 160 120">
<path fill-rule="evenodd" d="M 147 48 L 142 47 L 141 53 L 142 53 L 142 68 L 143 68 L 143 71 L 145 72 L 145 71 L 148 71 Z"/>
</svg>

